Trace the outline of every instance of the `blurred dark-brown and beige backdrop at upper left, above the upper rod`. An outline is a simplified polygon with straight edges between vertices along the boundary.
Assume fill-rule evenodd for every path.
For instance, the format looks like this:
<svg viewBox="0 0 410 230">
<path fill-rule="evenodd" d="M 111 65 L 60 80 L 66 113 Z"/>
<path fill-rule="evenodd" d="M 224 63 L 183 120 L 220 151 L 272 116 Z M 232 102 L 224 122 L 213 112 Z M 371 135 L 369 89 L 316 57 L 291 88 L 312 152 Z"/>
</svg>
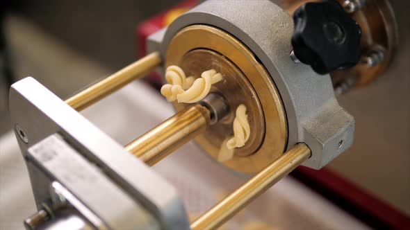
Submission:
<svg viewBox="0 0 410 230">
<path fill-rule="evenodd" d="M 33 76 L 66 98 L 136 60 L 138 24 L 177 3 L 0 0 L 0 134 L 11 128 L 10 82 Z"/>
</svg>

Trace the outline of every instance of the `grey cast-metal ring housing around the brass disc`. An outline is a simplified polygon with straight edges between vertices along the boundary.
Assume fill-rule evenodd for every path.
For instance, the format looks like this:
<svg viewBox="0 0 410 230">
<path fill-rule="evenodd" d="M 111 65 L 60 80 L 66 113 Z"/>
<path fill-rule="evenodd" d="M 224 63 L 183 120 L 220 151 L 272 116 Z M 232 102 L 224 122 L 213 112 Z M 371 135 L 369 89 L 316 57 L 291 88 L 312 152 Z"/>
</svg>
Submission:
<svg viewBox="0 0 410 230">
<path fill-rule="evenodd" d="M 254 24 L 254 21 L 259 23 Z M 322 168 L 352 145 L 354 118 L 338 105 L 329 76 L 318 76 L 289 57 L 293 19 L 287 12 L 271 1 L 206 1 L 176 19 L 167 28 L 161 45 L 152 44 L 161 37 L 153 35 L 156 39 L 150 40 L 150 47 L 161 46 L 165 56 L 172 37 L 181 28 L 192 24 L 221 28 L 259 57 L 284 102 L 288 148 L 297 142 L 305 142 L 313 152 L 304 166 Z M 341 141 L 343 145 L 339 148 Z"/>
</svg>

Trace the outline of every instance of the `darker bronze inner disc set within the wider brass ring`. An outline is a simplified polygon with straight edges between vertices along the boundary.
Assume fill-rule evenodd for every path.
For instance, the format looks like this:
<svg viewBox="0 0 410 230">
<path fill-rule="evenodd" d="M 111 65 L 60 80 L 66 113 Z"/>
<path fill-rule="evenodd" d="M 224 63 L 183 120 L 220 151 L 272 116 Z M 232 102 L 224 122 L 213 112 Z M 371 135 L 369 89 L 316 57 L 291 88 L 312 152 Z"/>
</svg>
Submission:
<svg viewBox="0 0 410 230">
<path fill-rule="evenodd" d="M 219 53 L 203 48 L 189 51 L 183 55 L 179 63 L 179 67 L 187 76 L 199 78 L 202 72 L 209 69 L 215 69 L 223 76 L 221 82 L 213 85 L 211 93 L 223 95 L 230 112 L 219 121 L 218 125 L 208 127 L 202 137 L 199 137 L 203 139 L 201 142 L 206 142 L 206 145 L 212 145 L 215 149 L 222 148 L 222 144 L 233 136 L 235 109 L 243 104 L 247 107 L 249 126 L 258 132 L 251 132 L 246 144 L 242 148 L 236 148 L 234 154 L 245 157 L 256 152 L 265 136 L 265 118 L 258 96 L 238 67 Z M 175 107 L 179 110 L 186 107 L 186 104 L 175 103 Z"/>
</svg>

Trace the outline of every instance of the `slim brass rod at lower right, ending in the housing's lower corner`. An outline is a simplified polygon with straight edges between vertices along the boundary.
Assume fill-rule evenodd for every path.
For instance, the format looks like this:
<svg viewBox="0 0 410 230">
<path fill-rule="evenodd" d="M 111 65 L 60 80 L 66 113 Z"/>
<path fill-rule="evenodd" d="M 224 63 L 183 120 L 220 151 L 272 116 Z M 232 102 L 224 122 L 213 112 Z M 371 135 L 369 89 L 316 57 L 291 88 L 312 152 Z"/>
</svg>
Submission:
<svg viewBox="0 0 410 230">
<path fill-rule="evenodd" d="M 219 204 L 213 206 L 212 209 L 192 222 L 190 228 L 192 230 L 206 230 L 220 227 L 249 202 L 288 175 L 289 172 L 308 159 L 310 155 L 311 150 L 306 144 L 298 143 L 293 146 L 277 161 L 271 163 Z"/>
</svg>

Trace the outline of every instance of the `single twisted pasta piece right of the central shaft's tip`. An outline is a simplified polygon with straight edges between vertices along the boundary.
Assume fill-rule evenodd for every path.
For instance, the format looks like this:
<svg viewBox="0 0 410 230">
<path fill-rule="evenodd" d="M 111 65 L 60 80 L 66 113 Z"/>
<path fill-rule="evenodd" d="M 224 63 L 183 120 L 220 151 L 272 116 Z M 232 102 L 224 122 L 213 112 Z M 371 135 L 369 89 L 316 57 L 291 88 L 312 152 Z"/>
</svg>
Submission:
<svg viewBox="0 0 410 230">
<path fill-rule="evenodd" d="M 247 121 L 246 106 L 239 105 L 236 108 L 236 116 L 233 120 L 233 137 L 227 141 L 227 148 L 240 148 L 249 139 L 251 128 Z"/>
</svg>

